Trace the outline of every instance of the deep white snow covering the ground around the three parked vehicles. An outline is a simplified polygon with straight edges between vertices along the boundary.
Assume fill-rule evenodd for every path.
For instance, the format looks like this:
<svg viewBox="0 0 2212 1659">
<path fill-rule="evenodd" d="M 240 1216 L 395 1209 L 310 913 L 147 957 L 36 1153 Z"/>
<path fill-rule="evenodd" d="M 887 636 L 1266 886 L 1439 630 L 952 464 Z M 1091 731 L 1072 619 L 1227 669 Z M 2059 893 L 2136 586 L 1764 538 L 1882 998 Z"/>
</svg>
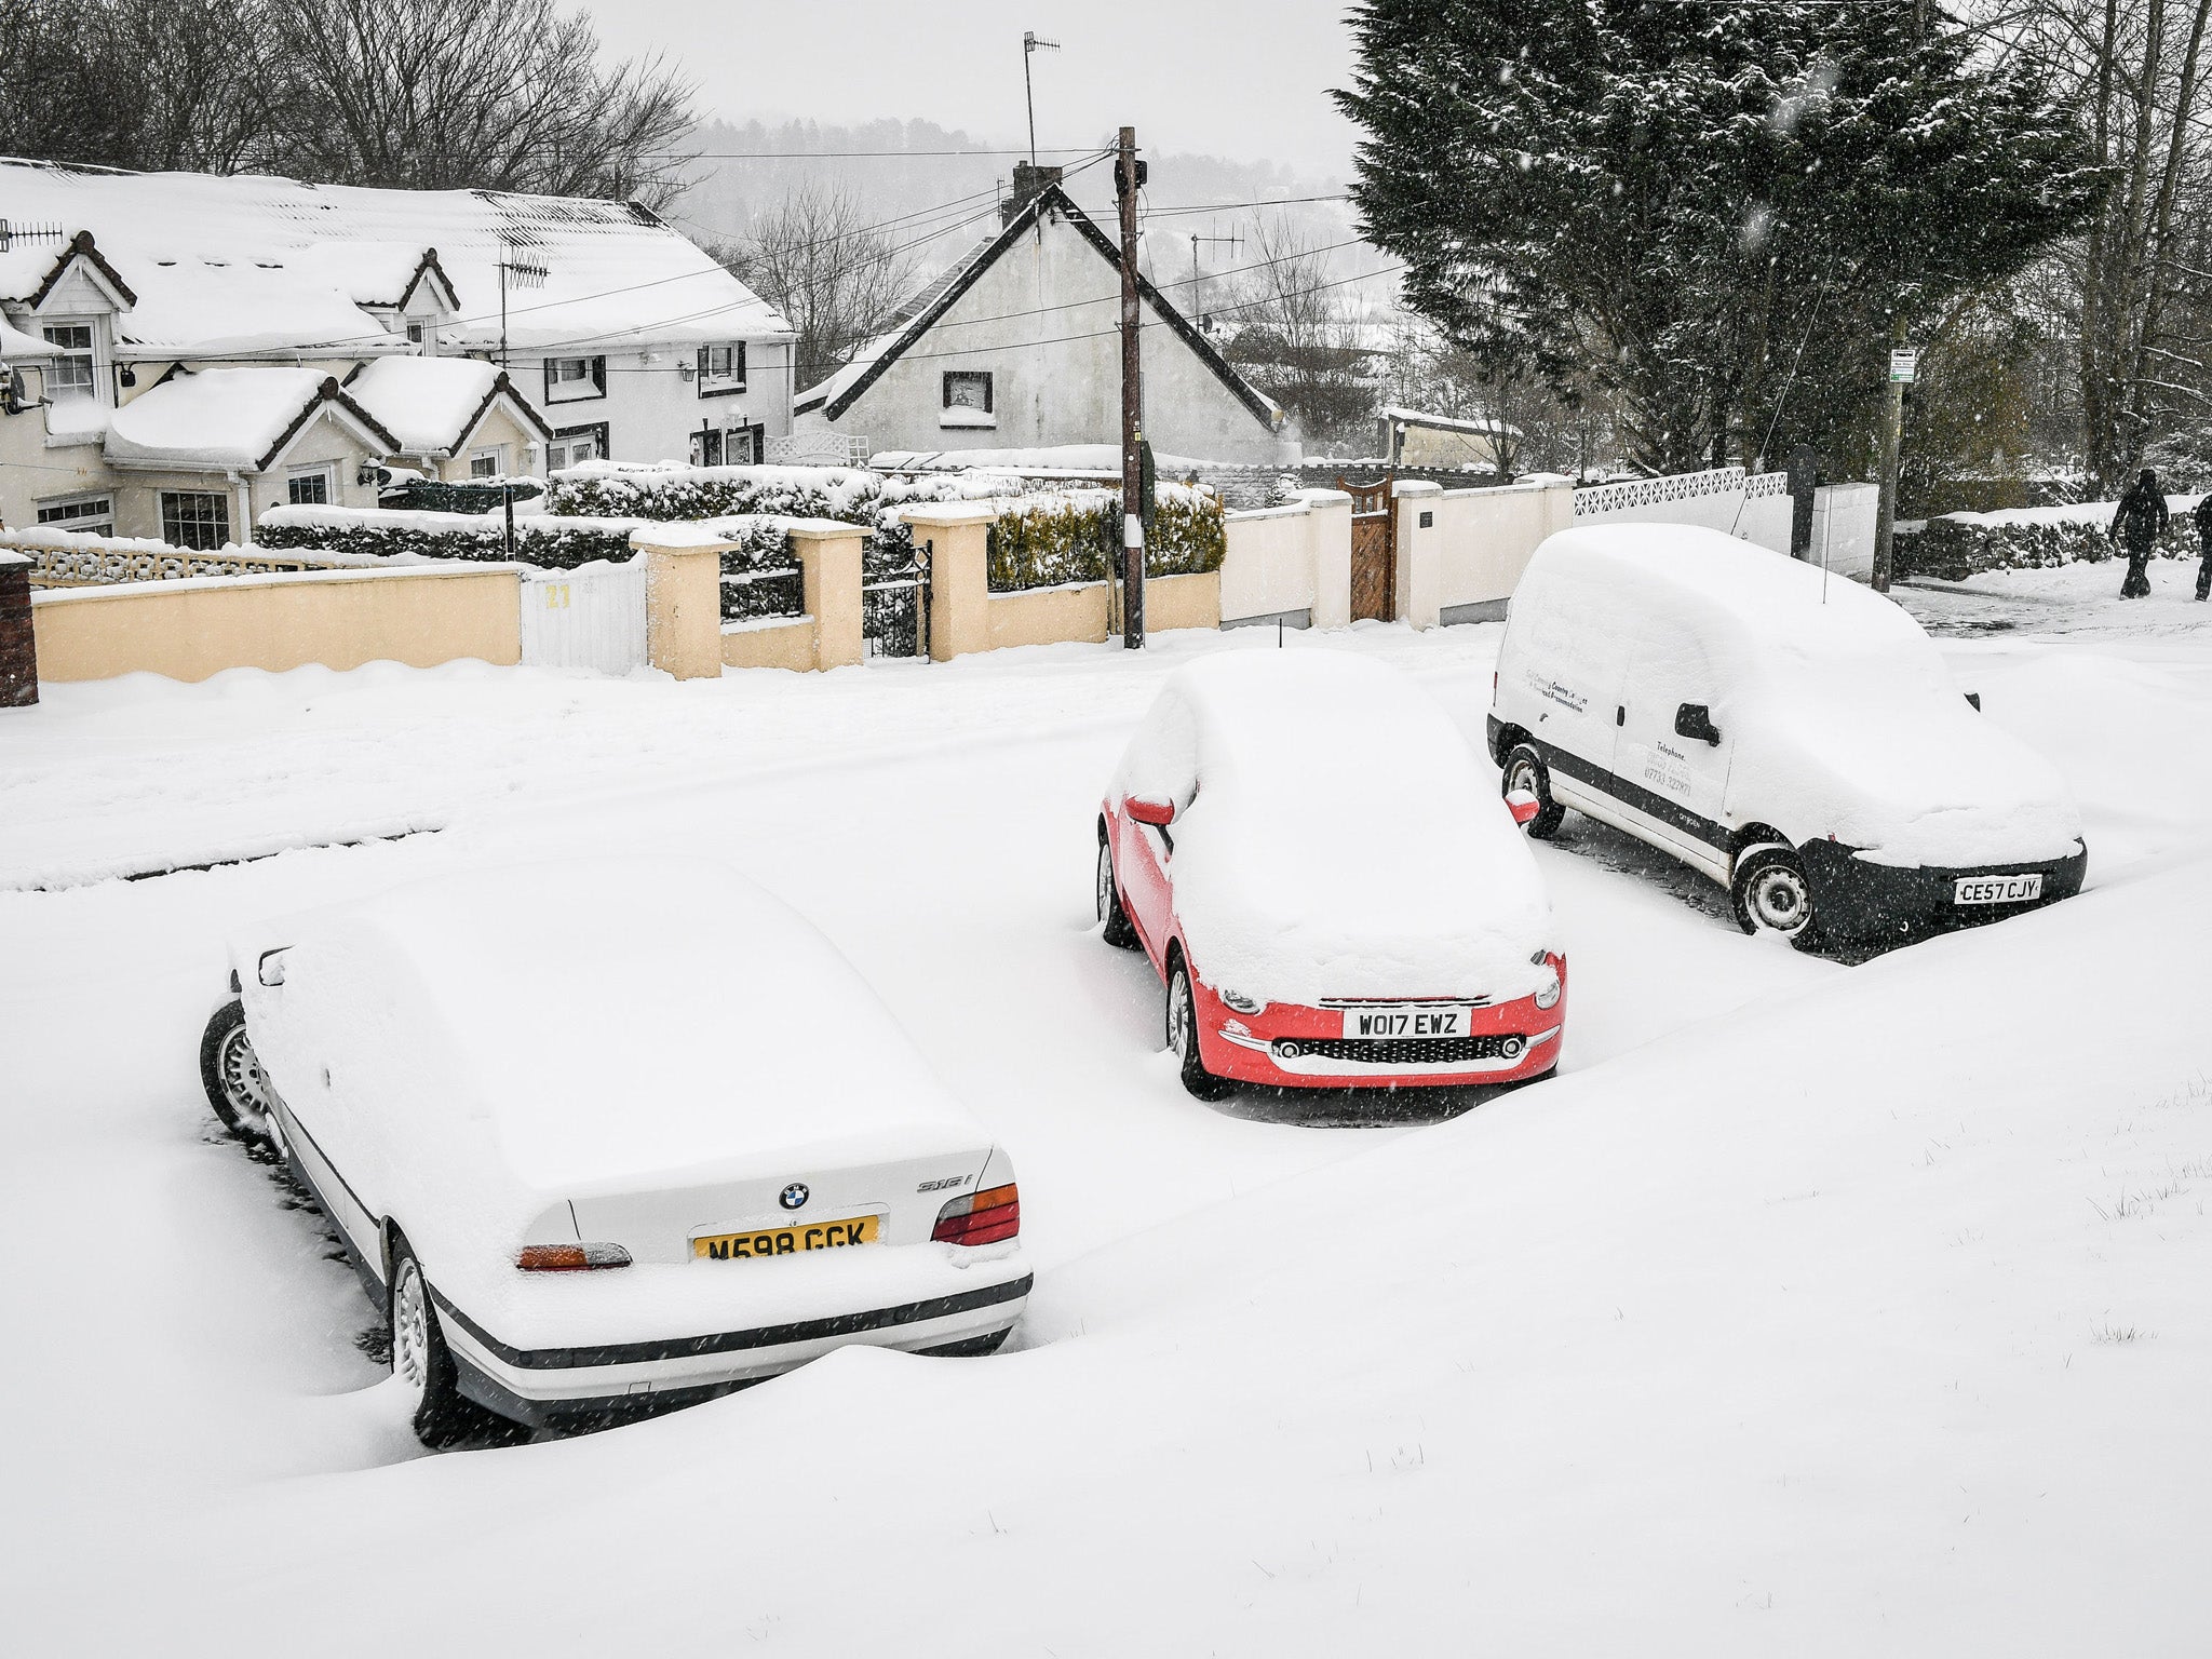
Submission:
<svg viewBox="0 0 2212 1659">
<path fill-rule="evenodd" d="M 1905 597 L 2015 619 L 1944 648 L 2081 792 L 2081 898 L 1845 967 L 1571 818 L 1562 1077 L 1380 1121 L 1192 1102 L 1091 925 L 1152 688 L 1272 635 L 51 688 L 0 717 L 4 1646 L 2199 1652 L 2212 606 L 2159 566 L 2059 626 L 2073 575 Z M 1290 646 L 1475 732 L 1498 630 Z M 314 1214 L 199 1095 L 219 927 L 617 845 L 799 905 L 1013 1148 L 1018 1352 L 416 1453 Z"/>
</svg>

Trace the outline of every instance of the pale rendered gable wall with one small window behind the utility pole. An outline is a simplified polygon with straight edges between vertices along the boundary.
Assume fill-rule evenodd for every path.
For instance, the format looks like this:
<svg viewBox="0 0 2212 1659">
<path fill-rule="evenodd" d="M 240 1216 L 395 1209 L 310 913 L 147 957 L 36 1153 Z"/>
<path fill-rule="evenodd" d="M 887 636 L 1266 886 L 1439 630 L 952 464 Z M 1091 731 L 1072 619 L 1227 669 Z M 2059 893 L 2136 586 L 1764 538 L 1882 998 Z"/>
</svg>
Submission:
<svg viewBox="0 0 2212 1659">
<path fill-rule="evenodd" d="M 1119 276 L 1046 210 L 830 425 L 876 449 L 1037 449 L 1121 440 Z M 1144 310 L 1144 431 L 1201 460 L 1276 460 L 1261 422 L 1159 312 Z M 947 407 L 947 372 L 989 374 L 991 411 Z"/>
</svg>

